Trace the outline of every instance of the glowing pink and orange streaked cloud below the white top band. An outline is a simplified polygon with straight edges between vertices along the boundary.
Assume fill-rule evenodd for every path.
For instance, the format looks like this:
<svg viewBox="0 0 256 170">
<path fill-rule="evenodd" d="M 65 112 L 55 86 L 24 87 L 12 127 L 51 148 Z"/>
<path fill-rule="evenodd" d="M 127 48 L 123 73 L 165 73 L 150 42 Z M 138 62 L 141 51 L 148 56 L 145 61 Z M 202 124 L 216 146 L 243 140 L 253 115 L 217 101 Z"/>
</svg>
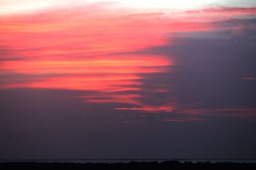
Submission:
<svg viewBox="0 0 256 170">
<path fill-rule="evenodd" d="M 172 111 L 174 107 L 168 104 L 144 104 L 138 92 L 143 90 L 141 80 L 145 74 L 169 72 L 174 61 L 163 55 L 122 53 L 164 45 L 170 32 L 214 31 L 218 28 L 211 24 L 210 15 L 230 14 L 223 9 L 188 11 L 183 13 L 188 15 L 185 17 L 127 11 L 86 6 L 0 17 L 0 46 L 13 51 L 4 57 L 19 57 L 1 60 L 0 74 L 36 76 L 33 81 L 9 78 L 12 81 L 1 83 L 0 88 L 91 90 L 95 95 L 81 97 L 84 101 L 136 105 L 116 110 Z M 250 15 L 255 9 L 228 11 L 232 15 Z M 210 17 L 198 18 L 202 12 Z M 193 17 L 196 20 L 188 20 Z M 152 92 L 167 91 L 162 88 Z"/>
</svg>

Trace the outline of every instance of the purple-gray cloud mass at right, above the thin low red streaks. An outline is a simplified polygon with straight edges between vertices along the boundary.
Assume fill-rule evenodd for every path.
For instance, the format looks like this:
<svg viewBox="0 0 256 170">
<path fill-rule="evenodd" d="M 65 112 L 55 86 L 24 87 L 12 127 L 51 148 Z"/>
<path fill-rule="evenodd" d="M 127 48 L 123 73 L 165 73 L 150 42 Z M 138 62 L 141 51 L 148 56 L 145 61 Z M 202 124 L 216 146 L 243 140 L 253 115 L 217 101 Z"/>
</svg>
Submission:
<svg viewBox="0 0 256 170">
<path fill-rule="evenodd" d="M 179 33 L 175 34 L 174 45 L 156 46 L 139 53 L 167 55 L 175 60 L 172 73 L 165 75 L 164 80 L 172 85 L 172 95 L 180 104 L 253 107 L 256 81 L 246 78 L 256 77 L 255 33 Z"/>
</svg>

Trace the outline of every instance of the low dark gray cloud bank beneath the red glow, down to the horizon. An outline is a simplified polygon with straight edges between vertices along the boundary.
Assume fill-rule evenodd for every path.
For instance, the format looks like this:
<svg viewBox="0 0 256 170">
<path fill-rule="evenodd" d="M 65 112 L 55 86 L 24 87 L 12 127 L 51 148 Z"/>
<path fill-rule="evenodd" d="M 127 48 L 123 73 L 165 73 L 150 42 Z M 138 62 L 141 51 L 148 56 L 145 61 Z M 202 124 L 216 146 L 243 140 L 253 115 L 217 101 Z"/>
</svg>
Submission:
<svg viewBox="0 0 256 170">
<path fill-rule="evenodd" d="M 255 122 L 163 122 L 86 104 L 72 90 L 0 90 L 1 159 L 252 159 Z M 161 115 L 160 115 L 161 117 Z"/>
</svg>

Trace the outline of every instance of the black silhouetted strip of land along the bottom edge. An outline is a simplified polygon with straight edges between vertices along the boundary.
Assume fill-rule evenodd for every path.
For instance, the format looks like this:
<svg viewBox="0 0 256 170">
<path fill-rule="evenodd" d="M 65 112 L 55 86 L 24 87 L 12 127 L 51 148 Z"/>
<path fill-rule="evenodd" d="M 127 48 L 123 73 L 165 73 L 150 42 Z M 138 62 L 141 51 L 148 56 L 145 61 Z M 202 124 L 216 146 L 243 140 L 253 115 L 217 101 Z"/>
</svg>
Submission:
<svg viewBox="0 0 256 170">
<path fill-rule="evenodd" d="M 0 169 L 256 169 L 255 163 L 211 163 L 211 162 L 129 162 L 129 163 L 47 163 L 47 162 L 3 162 Z"/>
</svg>

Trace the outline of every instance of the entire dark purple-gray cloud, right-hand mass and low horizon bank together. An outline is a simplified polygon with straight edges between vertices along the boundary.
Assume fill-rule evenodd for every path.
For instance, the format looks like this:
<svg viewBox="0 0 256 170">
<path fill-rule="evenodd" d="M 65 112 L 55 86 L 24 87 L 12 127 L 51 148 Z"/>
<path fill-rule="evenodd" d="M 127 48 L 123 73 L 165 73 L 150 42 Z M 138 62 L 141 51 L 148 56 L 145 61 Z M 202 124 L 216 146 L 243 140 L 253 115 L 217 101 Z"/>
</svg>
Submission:
<svg viewBox="0 0 256 170">
<path fill-rule="evenodd" d="M 253 159 L 255 117 L 223 115 L 232 114 L 232 109 L 243 115 L 244 108 L 256 106 L 256 81 L 252 79 L 256 77 L 255 35 L 252 27 L 244 27 L 239 34 L 232 29 L 179 32 L 171 35 L 175 38 L 172 45 L 125 53 L 161 54 L 175 60 L 170 73 L 145 74 L 140 80 L 144 89 L 141 102 L 177 103 L 177 110 L 170 113 L 113 110 L 127 104 L 99 106 L 77 97 L 95 92 L 2 89 L 0 159 Z M 1 76 L 12 81 L 12 76 L 22 75 Z M 30 79 L 34 78 L 31 75 Z M 161 86 L 170 91 L 155 93 Z M 129 94 L 116 92 L 125 93 Z M 237 112 L 236 108 L 242 109 Z M 182 114 L 191 109 L 203 114 Z M 163 121 L 189 118 L 204 120 Z"/>
</svg>

